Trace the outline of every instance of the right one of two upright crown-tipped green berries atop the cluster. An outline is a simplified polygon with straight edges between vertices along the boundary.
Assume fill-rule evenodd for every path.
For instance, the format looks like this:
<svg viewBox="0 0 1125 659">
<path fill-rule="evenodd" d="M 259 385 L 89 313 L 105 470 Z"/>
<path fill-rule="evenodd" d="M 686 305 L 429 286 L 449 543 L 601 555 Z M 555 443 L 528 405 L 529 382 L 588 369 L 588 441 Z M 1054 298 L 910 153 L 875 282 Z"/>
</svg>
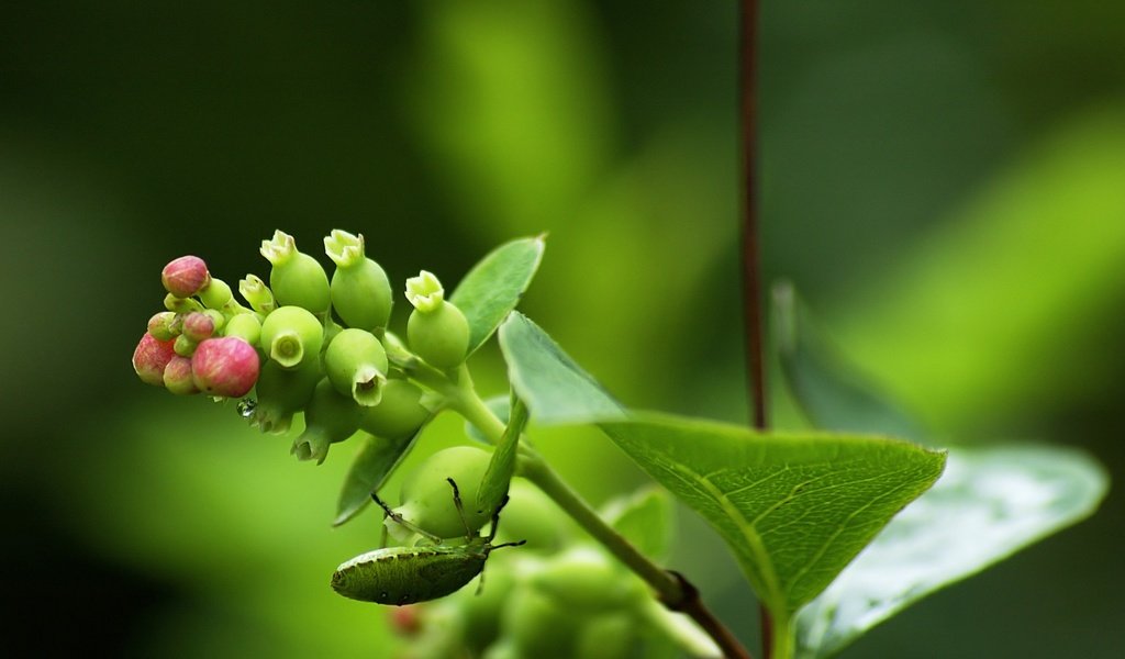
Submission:
<svg viewBox="0 0 1125 659">
<path fill-rule="evenodd" d="M 332 273 L 332 308 L 350 327 L 377 331 L 390 319 L 390 281 L 382 268 L 363 254 L 363 235 L 334 229 L 324 251 L 336 264 Z"/>
</svg>

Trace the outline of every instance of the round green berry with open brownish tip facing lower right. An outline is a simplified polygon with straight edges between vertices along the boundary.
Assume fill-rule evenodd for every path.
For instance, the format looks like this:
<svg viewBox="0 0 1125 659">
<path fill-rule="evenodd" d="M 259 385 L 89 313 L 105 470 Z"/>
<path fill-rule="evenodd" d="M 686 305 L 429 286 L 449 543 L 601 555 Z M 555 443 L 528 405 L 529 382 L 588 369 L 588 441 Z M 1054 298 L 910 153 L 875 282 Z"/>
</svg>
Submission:
<svg viewBox="0 0 1125 659">
<path fill-rule="evenodd" d="M 332 386 L 364 407 L 378 405 L 382 399 L 387 365 L 382 344 L 364 330 L 341 331 L 324 351 L 324 370 Z"/>
</svg>

